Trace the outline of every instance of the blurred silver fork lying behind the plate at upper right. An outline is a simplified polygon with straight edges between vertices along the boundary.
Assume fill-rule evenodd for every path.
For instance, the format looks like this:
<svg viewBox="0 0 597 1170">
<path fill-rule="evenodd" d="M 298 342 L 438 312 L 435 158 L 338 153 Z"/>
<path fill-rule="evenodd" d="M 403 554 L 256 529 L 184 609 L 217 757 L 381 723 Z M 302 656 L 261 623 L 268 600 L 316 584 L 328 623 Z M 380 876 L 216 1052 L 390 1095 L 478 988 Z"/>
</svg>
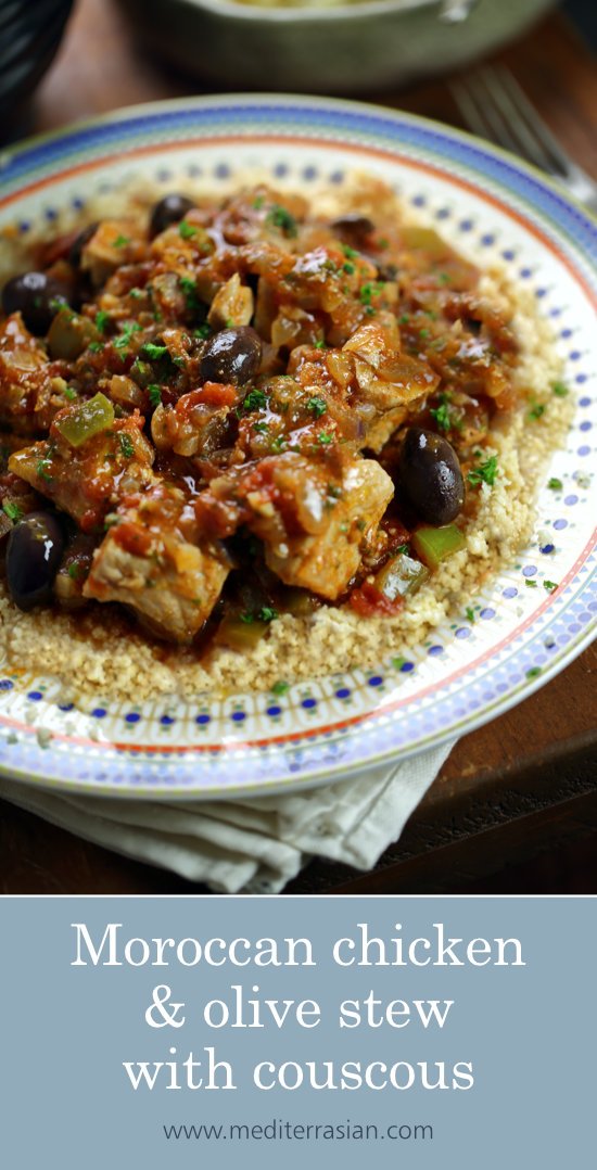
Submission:
<svg viewBox="0 0 597 1170">
<path fill-rule="evenodd" d="M 475 135 L 534 163 L 597 212 L 597 183 L 562 150 L 509 69 L 486 66 L 453 82 L 451 89 Z"/>
</svg>

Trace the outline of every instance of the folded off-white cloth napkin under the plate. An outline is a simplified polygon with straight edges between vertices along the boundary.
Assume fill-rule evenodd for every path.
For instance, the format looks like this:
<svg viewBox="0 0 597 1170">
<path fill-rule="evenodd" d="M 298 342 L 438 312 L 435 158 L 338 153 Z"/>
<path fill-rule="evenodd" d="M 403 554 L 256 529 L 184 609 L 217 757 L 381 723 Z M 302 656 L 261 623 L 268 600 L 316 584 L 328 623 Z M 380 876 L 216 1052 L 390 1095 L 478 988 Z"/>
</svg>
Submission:
<svg viewBox="0 0 597 1170">
<path fill-rule="evenodd" d="M 217 893 L 277 894 L 313 856 L 371 869 L 455 741 L 289 796 L 163 803 L 63 796 L 0 779 L 0 797 L 116 853 Z"/>
</svg>

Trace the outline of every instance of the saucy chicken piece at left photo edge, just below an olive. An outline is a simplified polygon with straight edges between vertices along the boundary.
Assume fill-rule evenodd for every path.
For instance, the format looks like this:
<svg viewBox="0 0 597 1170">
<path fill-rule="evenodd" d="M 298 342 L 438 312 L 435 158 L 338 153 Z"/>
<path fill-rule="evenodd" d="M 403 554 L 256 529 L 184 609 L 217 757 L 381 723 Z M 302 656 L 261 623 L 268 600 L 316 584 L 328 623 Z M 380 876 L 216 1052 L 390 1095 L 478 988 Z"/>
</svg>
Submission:
<svg viewBox="0 0 597 1170">
<path fill-rule="evenodd" d="M 20 312 L 0 326 L 0 422 L 21 434 L 46 431 L 64 406 L 66 381 Z"/>
</svg>

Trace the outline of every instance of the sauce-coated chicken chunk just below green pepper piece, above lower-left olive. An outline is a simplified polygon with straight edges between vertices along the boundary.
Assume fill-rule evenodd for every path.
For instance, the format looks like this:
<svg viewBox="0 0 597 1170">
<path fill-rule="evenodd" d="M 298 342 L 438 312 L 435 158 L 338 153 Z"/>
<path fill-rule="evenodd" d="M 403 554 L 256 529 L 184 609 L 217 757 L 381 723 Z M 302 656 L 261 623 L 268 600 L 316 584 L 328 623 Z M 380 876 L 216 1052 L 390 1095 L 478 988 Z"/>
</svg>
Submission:
<svg viewBox="0 0 597 1170">
<path fill-rule="evenodd" d="M 73 447 L 59 425 L 76 411 L 61 411 L 49 440 L 15 452 L 8 469 L 91 532 L 128 494 L 153 483 L 156 453 L 142 432 L 144 419 L 138 411 Z"/>
</svg>

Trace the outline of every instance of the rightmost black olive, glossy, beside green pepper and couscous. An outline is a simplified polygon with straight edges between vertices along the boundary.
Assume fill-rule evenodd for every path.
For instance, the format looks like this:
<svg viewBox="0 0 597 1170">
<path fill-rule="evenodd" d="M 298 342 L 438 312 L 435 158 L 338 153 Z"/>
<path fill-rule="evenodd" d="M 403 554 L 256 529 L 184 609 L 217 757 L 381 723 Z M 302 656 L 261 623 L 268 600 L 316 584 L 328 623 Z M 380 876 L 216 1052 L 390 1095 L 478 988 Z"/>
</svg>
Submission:
<svg viewBox="0 0 597 1170">
<path fill-rule="evenodd" d="M 427 524 L 450 524 L 465 502 L 465 483 L 454 448 L 433 431 L 411 427 L 400 450 L 400 484 Z"/>
</svg>

